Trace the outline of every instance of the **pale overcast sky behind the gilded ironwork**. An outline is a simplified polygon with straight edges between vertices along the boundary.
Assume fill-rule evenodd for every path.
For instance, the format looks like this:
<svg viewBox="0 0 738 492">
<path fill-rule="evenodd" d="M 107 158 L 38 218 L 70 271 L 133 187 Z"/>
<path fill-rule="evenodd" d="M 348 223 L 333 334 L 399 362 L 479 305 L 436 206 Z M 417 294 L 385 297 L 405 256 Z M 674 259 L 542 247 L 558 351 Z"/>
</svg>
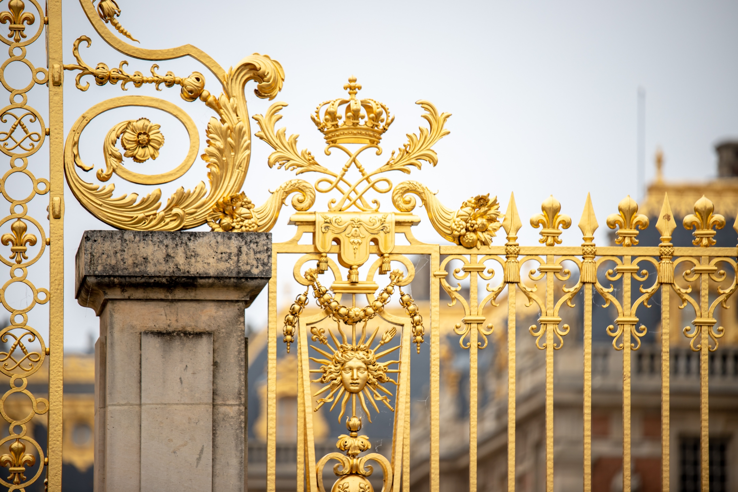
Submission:
<svg viewBox="0 0 738 492">
<path fill-rule="evenodd" d="M 87 0 L 84 0 L 87 1 Z M 349 75 L 356 75 L 360 96 L 386 103 L 396 114 L 382 144 L 385 154 L 363 163 L 383 164 L 407 132 L 417 132 L 421 108 L 415 100 L 432 101 L 453 114 L 451 131 L 436 145 L 439 162 L 410 177 L 398 173 L 396 184 L 418 179 L 448 207 L 469 195 L 492 193 L 506 208 L 511 191 L 520 215 L 539 212 L 553 193 L 562 212 L 579 221 L 587 192 L 601 227 L 627 194 L 636 194 L 636 94 L 646 90 L 646 181 L 653 176 L 652 155 L 658 145 L 666 154 L 667 179 L 708 179 L 715 175 L 714 144 L 738 137 L 738 3 L 731 1 L 280 1 L 118 0 L 120 23 L 147 48 L 194 44 L 228 67 L 252 52 L 280 61 L 286 72 L 277 100 L 289 103 L 280 125 L 300 134 L 299 148 L 309 148 L 328 167 L 340 167 L 337 153 L 323 154 L 323 138 L 309 114 L 317 103 L 341 96 Z M 124 59 L 97 37 L 77 1 L 64 4 L 65 63 L 74 63 L 72 42 L 92 38 L 81 49 L 91 66 Z M 150 62 L 128 58 L 128 71 L 148 73 Z M 38 63 L 41 64 L 41 63 Z M 159 73 L 179 76 L 204 73 L 211 92 L 220 92 L 213 75 L 192 59 L 159 62 Z M 179 90 L 98 87 L 80 93 L 73 74 L 65 84 L 65 132 L 94 103 L 124 94 L 149 94 L 182 105 L 204 129 L 212 111 L 202 103 L 184 103 Z M 89 78 L 89 77 L 88 77 Z M 92 81 L 92 79 L 90 79 Z M 263 114 L 269 102 L 252 96 L 251 114 Z M 102 138 L 114 123 L 149 117 L 162 124 L 166 142 L 156 162 L 136 164 L 158 173 L 181 162 L 186 153 L 182 126 L 161 111 L 126 109 L 97 118 L 82 139 L 88 164 L 103 164 Z M 255 127 L 252 126 L 252 131 Z M 269 148 L 253 141 L 244 190 L 257 204 L 292 177 L 266 165 Z M 372 156 L 373 157 L 373 156 Z M 126 165 L 131 165 L 126 163 Z M 184 179 L 162 186 L 168 197 L 179 186 L 205 179 L 198 160 Z M 92 174 L 92 173 L 91 173 Z M 303 175 L 314 181 L 317 176 Z M 86 177 L 92 181 L 93 176 Z M 117 191 L 134 186 L 114 178 Z M 141 189 L 137 189 L 139 193 Z M 149 190 L 150 191 L 150 190 Z M 390 207 L 389 195 L 377 197 Z M 43 201 L 43 200 L 42 200 Z M 320 195 L 317 207 L 325 207 Z M 423 209 L 419 236 L 437 241 Z M 292 235 L 283 209 L 275 240 Z M 97 337 L 97 318 L 74 299 L 74 257 L 85 229 L 108 229 L 66 195 L 65 343 L 82 350 L 88 333 Z M 599 231 L 602 233 L 602 229 Z M 537 231 L 525 224 L 521 241 L 532 243 Z M 579 244 L 576 226 L 565 243 Z M 604 242 L 604 235 L 599 237 Z M 287 294 L 287 293 L 285 293 Z M 265 319 L 263 302 L 251 311 L 255 324 Z M 37 311 L 37 310 L 34 310 Z M 47 312 L 47 311 L 46 311 Z M 43 311 L 38 310 L 38 315 Z M 37 316 L 38 316 L 37 315 Z M 41 319 L 37 325 L 44 323 Z"/>
</svg>

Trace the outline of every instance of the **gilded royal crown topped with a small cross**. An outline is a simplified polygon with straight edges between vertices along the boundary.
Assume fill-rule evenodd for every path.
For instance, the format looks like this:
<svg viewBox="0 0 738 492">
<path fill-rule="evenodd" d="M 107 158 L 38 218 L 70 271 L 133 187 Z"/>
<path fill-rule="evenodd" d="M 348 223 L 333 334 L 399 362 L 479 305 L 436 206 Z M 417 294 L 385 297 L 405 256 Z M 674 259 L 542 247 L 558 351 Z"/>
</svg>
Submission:
<svg viewBox="0 0 738 492">
<path fill-rule="evenodd" d="M 356 99 L 356 92 L 362 86 L 356 83 L 353 75 L 348 77 L 343 89 L 348 89 L 348 99 L 320 103 L 311 119 L 329 144 L 378 144 L 395 117 L 390 117 L 390 110 L 382 103 L 373 99 Z M 345 119 L 341 122 L 343 115 L 339 108 L 342 105 L 346 105 L 346 109 Z M 365 112 L 362 113 L 362 110 Z"/>
</svg>

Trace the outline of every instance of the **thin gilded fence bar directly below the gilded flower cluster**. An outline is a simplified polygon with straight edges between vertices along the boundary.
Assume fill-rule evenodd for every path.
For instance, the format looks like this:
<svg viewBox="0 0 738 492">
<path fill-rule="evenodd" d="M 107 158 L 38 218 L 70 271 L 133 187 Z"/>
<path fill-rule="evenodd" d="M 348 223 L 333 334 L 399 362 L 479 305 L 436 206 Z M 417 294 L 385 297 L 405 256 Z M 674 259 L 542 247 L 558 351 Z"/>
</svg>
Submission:
<svg viewBox="0 0 738 492">
<path fill-rule="evenodd" d="M 477 255 L 469 255 L 476 265 Z M 477 271 L 469 273 L 469 313 L 477 313 Z M 469 492 L 477 491 L 477 323 L 469 325 Z"/>
</svg>

